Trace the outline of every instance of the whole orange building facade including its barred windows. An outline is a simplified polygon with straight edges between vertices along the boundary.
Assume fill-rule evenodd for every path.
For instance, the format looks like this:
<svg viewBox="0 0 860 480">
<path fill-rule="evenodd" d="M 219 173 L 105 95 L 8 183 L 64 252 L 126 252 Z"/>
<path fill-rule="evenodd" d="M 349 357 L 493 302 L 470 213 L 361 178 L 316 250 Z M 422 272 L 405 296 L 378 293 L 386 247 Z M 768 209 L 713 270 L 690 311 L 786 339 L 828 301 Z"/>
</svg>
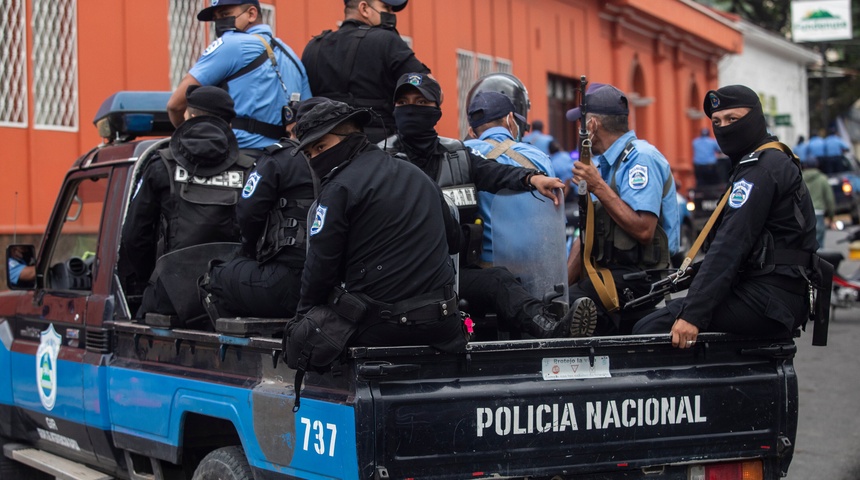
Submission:
<svg viewBox="0 0 860 480">
<path fill-rule="evenodd" d="M 261 0 L 265 20 L 300 53 L 343 17 L 341 0 Z M 0 42 L 0 238 L 43 231 L 72 160 L 98 145 L 93 117 L 118 90 L 170 90 L 212 38 L 194 19 L 208 0 L 6 0 Z M 575 147 L 580 75 L 628 93 L 631 126 L 691 186 L 690 139 L 707 123 L 717 62 L 740 53 L 738 27 L 692 0 L 412 0 L 398 29 L 446 92 L 442 135 L 462 137 L 479 76 L 511 72 L 530 119 Z M 313 87 L 313 86 L 312 86 Z M 799 120 L 799 119 L 798 119 Z"/>
</svg>

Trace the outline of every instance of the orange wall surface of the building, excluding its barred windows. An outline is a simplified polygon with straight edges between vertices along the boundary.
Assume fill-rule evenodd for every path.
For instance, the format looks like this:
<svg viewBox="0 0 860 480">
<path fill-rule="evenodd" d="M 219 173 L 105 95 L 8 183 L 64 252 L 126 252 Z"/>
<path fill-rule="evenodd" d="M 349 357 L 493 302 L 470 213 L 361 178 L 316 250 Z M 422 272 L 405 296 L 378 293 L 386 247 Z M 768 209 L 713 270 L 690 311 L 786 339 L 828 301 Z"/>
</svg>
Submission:
<svg viewBox="0 0 860 480">
<path fill-rule="evenodd" d="M 277 35 L 299 54 L 343 14 L 338 0 L 262 1 L 275 5 Z M 0 127 L 0 234 L 11 234 L 15 222 L 18 233 L 44 230 L 72 161 L 100 142 L 91 122 L 108 95 L 170 88 L 168 6 L 168 0 L 78 0 L 79 131 L 34 129 L 32 96 L 28 128 Z M 529 89 L 529 118 L 546 124 L 548 74 L 585 74 L 631 92 L 638 65 L 638 93 L 654 101 L 636 109 L 631 126 L 664 153 L 682 189 L 691 186 L 690 141 L 707 125 L 687 110 L 701 110 L 701 96 L 717 86 L 717 60 L 742 45 L 738 31 L 687 0 L 412 0 L 398 14 L 398 30 L 412 37 L 416 55 L 442 84 L 438 130 L 446 136 L 458 134 L 458 49 L 512 60 Z M 28 79 L 32 91 L 32 69 Z"/>
</svg>

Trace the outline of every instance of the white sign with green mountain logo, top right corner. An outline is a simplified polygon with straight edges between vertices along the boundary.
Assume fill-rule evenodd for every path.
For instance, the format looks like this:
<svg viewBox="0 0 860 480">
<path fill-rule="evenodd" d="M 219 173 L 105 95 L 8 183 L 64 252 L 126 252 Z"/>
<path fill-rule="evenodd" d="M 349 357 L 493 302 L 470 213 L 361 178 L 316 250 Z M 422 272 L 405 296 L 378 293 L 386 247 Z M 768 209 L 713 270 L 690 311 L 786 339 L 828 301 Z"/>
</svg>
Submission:
<svg viewBox="0 0 860 480">
<path fill-rule="evenodd" d="M 795 42 L 851 39 L 851 0 L 792 1 L 791 35 Z"/>
</svg>

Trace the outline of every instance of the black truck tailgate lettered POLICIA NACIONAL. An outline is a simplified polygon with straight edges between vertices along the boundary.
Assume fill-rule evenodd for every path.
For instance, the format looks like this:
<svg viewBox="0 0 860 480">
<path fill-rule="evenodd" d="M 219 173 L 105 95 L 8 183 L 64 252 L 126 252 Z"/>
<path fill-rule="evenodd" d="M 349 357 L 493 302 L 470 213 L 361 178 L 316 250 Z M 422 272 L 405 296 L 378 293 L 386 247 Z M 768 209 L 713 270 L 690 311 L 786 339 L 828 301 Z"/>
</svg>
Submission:
<svg viewBox="0 0 860 480">
<path fill-rule="evenodd" d="M 794 441 L 790 340 L 703 334 L 681 351 L 665 338 L 368 349 L 356 368 L 375 463 L 391 478 L 552 476 L 774 460 Z"/>
</svg>

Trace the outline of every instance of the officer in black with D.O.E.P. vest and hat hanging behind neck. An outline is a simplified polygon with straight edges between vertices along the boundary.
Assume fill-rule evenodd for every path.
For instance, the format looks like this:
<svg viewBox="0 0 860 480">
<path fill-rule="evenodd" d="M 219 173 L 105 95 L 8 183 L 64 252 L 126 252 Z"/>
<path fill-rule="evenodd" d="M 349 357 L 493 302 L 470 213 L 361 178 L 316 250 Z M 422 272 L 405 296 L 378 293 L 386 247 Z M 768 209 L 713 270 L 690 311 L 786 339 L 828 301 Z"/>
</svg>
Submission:
<svg viewBox="0 0 860 480">
<path fill-rule="evenodd" d="M 150 158 L 123 225 L 121 257 L 133 277 L 150 279 L 138 317 L 175 314 L 158 272 L 153 275 L 157 258 L 193 245 L 239 241 L 236 203 L 254 161 L 239 153 L 228 123 L 236 115 L 233 100 L 223 89 L 196 85 L 186 96 L 186 120 L 170 147 Z"/>
</svg>

